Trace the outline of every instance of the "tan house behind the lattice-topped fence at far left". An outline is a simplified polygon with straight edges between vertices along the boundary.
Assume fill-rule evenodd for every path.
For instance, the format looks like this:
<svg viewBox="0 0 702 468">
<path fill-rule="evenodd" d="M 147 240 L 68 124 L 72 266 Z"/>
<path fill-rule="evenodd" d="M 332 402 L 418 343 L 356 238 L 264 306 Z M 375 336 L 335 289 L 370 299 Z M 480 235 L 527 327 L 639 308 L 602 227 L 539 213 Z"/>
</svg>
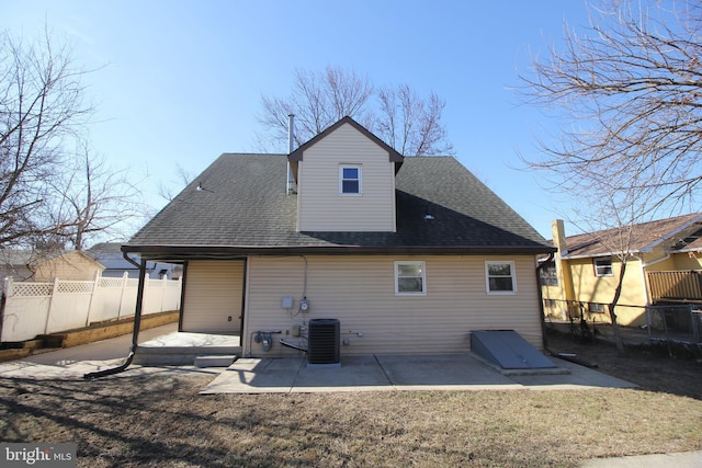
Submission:
<svg viewBox="0 0 702 468">
<path fill-rule="evenodd" d="M 0 250 L 0 273 L 14 281 L 39 283 L 93 281 L 105 267 L 80 251 Z"/>
</svg>

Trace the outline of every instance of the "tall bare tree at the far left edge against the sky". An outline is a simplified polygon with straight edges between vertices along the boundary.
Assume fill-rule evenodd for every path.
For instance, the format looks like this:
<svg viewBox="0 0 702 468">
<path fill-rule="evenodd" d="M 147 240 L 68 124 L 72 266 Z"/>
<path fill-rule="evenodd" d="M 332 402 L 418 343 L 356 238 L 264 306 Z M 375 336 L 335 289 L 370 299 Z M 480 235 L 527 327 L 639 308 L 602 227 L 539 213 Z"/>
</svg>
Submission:
<svg viewBox="0 0 702 468">
<path fill-rule="evenodd" d="M 61 146 L 91 107 L 66 46 L 48 33 L 34 43 L 0 32 L 0 247 L 56 232 L 46 216 Z"/>
</svg>

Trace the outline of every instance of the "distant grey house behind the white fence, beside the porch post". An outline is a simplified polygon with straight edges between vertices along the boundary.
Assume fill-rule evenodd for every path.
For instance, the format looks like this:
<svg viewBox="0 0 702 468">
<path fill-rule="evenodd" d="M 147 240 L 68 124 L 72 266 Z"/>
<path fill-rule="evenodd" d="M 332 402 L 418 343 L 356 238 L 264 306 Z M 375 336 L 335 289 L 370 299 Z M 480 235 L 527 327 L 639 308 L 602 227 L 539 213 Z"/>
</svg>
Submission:
<svg viewBox="0 0 702 468">
<path fill-rule="evenodd" d="M 128 277 L 135 278 L 139 275 L 139 269 L 124 258 L 122 250 L 120 250 L 121 247 L 122 243 L 117 242 L 101 242 L 88 249 L 86 253 L 105 265 L 105 270 L 102 272 L 103 277 L 122 277 L 126 273 Z M 138 255 L 134 260 L 138 262 Z M 147 262 L 146 271 L 152 279 L 165 277 L 178 279 L 182 274 L 180 265 L 160 262 Z"/>
</svg>

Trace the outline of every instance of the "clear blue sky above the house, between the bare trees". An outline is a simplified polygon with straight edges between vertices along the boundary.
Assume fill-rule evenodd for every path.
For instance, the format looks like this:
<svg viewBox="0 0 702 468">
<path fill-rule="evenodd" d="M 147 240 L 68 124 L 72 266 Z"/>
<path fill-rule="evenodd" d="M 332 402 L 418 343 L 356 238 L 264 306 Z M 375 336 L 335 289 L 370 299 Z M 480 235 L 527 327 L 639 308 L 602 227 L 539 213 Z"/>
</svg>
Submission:
<svg viewBox="0 0 702 468">
<path fill-rule="evenodd" d="M 580 0 L 35 1 L 3 2 L 0 27 L 35 36 L 46 23 L 73 45 L 98 113 L 94 152 L 128 167 L 154 207 L 159 182 L 193 175 L 223 152 L 257 151 L 261 95 L 286 96 L 296 68 L 339 66 L 375 85 L 406 83 L 446 101 L 456 158 L 545 238 L 571 205 L 519 153 L 554 128 L 513 88 L 532 54 L 587 23 Z M 285 148 L 280 148 L 284 151 Z"/>
</svg>

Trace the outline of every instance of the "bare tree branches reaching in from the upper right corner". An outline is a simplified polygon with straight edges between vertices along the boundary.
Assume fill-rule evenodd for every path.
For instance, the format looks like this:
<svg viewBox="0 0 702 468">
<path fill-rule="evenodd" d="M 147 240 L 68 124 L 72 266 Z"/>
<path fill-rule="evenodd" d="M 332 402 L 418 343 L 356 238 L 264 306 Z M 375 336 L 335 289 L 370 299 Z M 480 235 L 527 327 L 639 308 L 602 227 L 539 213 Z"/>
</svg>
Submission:
<svg viewBox="0 0 702 468">
<path fill-rule="evenodd" d="M 566 27 L 565 47 L 521 77 L 526 101 L 564 122 L 559 142 L 526 162 L 564 191 L 608 181 L 614 199 L 647 193 L 647 213 L 699 209 L 701 13 L 694 0 L 621 0 L 591 9 L 581 34 Z"/>
</svg>

